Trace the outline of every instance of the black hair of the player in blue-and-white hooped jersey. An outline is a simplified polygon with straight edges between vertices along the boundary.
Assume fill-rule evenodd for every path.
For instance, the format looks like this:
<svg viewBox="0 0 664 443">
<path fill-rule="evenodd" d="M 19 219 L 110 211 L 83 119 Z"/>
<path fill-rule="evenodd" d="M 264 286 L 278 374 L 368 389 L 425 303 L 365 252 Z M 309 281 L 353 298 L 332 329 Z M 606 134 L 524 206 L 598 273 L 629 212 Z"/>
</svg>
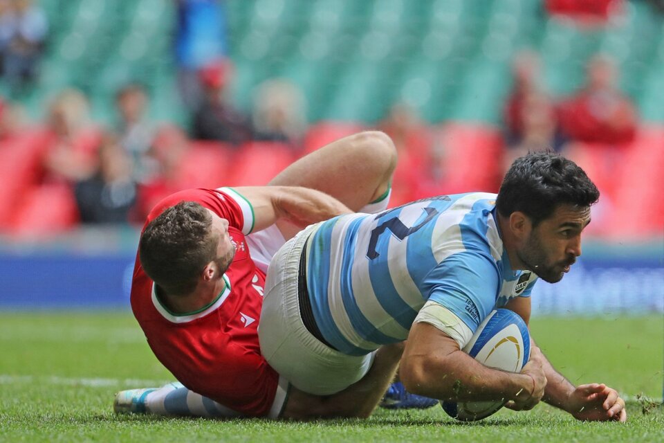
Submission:
<svg viewBox="0 0 664 443">
<path fill-rule="evenodd" d="M 496 208 L 504 217 L 521 211 L 537 226 L 561 204 L 586 208 L 599 198 L 597 187 L 576 163 L 551 151 L 531 152 L 510 166 Z"/>
</svg>

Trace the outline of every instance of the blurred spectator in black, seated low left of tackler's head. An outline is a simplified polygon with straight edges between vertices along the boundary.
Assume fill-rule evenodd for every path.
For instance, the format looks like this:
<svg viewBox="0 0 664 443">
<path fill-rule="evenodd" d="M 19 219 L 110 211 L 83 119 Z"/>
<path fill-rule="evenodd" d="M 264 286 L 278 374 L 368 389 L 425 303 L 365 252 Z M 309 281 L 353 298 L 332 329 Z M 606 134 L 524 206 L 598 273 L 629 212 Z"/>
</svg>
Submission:
<svg viewBox="0 0 664 443">
<path fill-rule="evenodd" d="M 136 202 L 131 156 L 117 136 L 106 134 L 97 151 L 95 173 L 74 188 L 83 223 L 127 223 Z"/>
</svg>

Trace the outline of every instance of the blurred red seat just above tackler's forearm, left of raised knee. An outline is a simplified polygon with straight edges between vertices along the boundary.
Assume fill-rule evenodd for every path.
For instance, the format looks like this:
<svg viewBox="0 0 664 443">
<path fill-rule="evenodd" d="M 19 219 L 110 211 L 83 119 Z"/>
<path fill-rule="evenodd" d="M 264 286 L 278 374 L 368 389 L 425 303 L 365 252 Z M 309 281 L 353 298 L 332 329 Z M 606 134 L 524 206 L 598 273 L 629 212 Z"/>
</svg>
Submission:
<svg viewBox="0 0 664 443">
<path fill-rule="evenodd" d="M 278 142 L 250 142 L 237 152 L 232 186 L 264 186 L 295 161 L 293 149 Z"/>
</svg>

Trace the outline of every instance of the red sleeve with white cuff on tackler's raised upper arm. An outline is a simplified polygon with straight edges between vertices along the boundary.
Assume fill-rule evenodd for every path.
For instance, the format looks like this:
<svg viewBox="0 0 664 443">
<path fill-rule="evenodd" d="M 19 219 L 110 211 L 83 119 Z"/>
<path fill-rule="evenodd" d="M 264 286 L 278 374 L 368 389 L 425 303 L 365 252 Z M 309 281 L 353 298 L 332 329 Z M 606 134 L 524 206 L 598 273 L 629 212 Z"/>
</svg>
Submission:
<svg viewBox="0 0 664 443">
<path fill-rule="evenodd" d="M 232 188 L 187 189 L 169 195 L 160 201 L 147 217 L 147 223 L 158 217 L 166 208 L 181 201 L 195 201 L 212 210 L 219 217 L 228 220 L 229 226 L 248 235 L 254 228 L 254 210 L 249 201 Z"/>
</svg>

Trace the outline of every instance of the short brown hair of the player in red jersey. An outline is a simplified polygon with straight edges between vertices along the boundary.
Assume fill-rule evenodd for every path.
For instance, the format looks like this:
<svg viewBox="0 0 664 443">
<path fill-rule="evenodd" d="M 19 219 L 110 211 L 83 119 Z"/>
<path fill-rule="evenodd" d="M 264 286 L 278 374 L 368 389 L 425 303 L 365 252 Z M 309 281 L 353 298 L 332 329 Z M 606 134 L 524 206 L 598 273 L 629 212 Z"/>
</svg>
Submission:
<svg viewBox="0 0 664 443">
<path fill-rule="evenodd" d="M 194 201 L 181 201 L 145 227 L 138 244 L 140 264 L 166 293 L 186 295 L 215 259 L 215 237 L 208 210 Z"/>
</svg>

